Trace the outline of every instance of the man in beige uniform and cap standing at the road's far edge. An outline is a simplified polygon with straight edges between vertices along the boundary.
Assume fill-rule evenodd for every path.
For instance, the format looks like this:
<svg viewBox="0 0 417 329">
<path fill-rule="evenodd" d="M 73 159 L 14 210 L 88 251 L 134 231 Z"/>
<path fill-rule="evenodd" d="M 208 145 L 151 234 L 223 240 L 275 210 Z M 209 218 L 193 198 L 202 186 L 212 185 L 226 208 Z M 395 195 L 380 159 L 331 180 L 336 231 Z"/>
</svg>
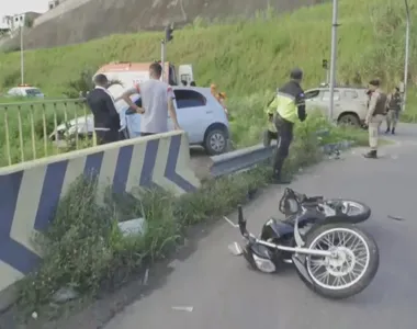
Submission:
<svg viewBox="0 0 417 329">
<path fill-rule="evenodd" d="M 369 131 L 369 146 L 371 150 L 363 155 L 365 158 L 377 158 L 377 135 L 380 126 L 386 114 L 386 94 L 380 89 L 380 81 L 372 80 L 369 82 L 369 90 L 372 92 L 368 106 L 365 124 Z"/>
</svg>

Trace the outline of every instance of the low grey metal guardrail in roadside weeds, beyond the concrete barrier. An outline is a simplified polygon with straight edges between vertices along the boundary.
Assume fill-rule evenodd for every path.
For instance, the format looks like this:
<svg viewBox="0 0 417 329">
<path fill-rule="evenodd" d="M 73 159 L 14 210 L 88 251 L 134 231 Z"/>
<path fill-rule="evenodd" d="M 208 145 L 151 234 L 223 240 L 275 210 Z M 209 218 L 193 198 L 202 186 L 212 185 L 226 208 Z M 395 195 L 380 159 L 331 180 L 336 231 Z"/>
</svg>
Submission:
<svg viewBox="0 0 417 329">
<path fill-rule="evenodd" d="M 327 129 L 316 132 L 316 136 L 328 134 L 329 132 Z M 352 145 L 352 140 L 342 140 L 339 143 L 323 145 L 320 149 L 324 154 L 338 156 L 340 150 L 349 148 Z M 272 158 L 275 148 L 277 145 L 271 145 L 269 147 L 257 145 L 211 157 L 211 160 L 213 161 L 211 174 L 214 178 L 217 178 L 255 168 L 262 162 L 269 161 Z"/>
</svg>

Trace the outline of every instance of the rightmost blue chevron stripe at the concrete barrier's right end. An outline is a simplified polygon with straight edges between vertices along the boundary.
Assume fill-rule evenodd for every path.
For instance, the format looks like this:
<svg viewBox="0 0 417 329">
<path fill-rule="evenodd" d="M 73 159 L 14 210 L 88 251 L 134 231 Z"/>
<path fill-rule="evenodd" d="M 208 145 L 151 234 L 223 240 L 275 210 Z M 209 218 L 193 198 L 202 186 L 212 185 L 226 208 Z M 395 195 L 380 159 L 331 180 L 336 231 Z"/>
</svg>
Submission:
<svg viewBox="0 0 417 329">
<path fill-rule="evenodd" d="M 185 192 L 193 192 L 196 190 L 196 186 L 191 184 L 183 177 L 179 175 L 176 171 L 178 156 L 180 154 L 181 148 L 181 135 L 172 136 L 171 144 L 169 146 L 167 167 L 165 168 L 165 177 L 169 179 L 171 182 L 176 183 Z"/>
</svg>

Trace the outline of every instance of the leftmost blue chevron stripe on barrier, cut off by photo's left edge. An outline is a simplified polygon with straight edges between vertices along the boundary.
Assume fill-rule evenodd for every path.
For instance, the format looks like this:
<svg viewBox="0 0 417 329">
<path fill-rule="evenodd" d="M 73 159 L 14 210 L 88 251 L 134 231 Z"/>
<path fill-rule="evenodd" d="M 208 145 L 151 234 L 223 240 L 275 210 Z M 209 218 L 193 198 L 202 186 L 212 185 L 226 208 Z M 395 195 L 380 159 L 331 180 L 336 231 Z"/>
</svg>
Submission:
<svg viewBox="0 0 417 329">
<path fill-rule="evenodd" d="M 0 260 L 27 274 L 40 257 L 10 238 L 23 171 L 0 175 Z"/>
</svg>

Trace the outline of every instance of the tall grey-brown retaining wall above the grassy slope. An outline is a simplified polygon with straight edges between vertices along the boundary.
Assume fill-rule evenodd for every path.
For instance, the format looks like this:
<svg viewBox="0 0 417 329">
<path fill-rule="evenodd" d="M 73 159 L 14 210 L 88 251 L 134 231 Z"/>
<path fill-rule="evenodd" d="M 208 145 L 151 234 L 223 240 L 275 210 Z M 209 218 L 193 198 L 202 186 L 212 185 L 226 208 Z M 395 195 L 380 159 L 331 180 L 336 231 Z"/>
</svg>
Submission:
<svg viewBox="0 0 417 329">
<path fill-rule="evenodd" d="M 326 1 L 67 0 L 40 16 L 35 26 L 26 31 L 25 49 L 78 44 L 115 33 L 140 33 L 144 30 L 161 32 L 169 23 L 174 23 L 178 29 L 193 22 L 195 18 L 250 18 L 269 7 L 283 12 Z M 15 37 L 3 47 L 16 48 L 19 44 L 20 38 Z"/>
</svg>

